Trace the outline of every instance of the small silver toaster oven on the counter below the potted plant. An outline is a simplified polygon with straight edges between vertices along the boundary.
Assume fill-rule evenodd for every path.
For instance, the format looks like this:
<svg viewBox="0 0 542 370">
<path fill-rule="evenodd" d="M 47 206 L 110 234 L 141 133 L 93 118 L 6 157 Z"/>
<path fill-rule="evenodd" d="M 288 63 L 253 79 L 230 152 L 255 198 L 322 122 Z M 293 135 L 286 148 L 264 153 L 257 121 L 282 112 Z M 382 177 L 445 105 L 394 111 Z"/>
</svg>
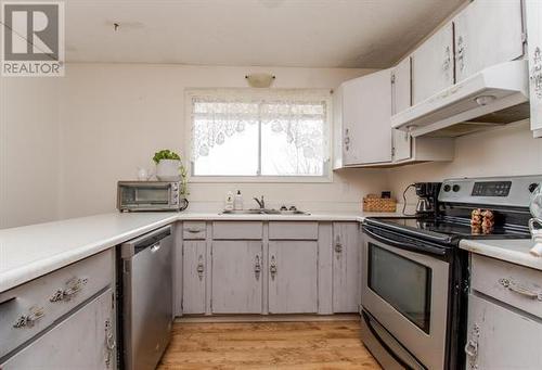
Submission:
<svg viewBox="0 0 542 370">
<path fill-rule="evenodd" d="M 181 184 L 169 181 L 118 181 L 117 208 L 120 212 L 183 210 L 189 201 Z"/>
</svg>

